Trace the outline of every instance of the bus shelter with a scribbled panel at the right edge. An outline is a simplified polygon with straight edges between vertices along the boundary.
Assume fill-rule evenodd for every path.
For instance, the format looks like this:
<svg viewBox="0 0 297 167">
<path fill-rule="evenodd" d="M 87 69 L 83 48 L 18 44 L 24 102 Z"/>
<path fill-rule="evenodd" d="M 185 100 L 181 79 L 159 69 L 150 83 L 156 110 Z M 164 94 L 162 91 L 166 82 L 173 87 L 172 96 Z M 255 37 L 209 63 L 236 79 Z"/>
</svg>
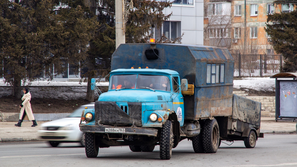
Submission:
<svg viewBox="0 0 297 167">
<path fill-rule="evenodd" d="M 278 73 L 275 78 L 275 120 L 297 119 L 297 73 Z"/>
</svg>

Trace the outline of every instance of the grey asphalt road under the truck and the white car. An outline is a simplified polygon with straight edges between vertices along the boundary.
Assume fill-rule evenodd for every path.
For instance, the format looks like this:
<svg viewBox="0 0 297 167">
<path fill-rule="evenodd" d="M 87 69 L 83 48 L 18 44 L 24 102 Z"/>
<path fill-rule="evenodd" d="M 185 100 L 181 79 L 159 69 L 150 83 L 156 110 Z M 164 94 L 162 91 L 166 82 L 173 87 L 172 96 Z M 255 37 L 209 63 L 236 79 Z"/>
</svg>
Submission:
<svg viewBox="0 0 297 167">
<path fill-rule="evenodd" d="M 228 142 L 230 144 L 230 142 Z M 222 143 L 215 154 L 196 154 L 192 142 L 183 140 L 170 160 L 160 160 L 159 146 L 153 152 L 131 152 L 128 146 L 100 148 L 97 158 L 87 158 L 78 143 L 50 147 L 45 142 L 0 144 L 0 166 L 297 166 L 296 134 L 265 134 L 255 148 L 243 141 Z"/>
</svg>

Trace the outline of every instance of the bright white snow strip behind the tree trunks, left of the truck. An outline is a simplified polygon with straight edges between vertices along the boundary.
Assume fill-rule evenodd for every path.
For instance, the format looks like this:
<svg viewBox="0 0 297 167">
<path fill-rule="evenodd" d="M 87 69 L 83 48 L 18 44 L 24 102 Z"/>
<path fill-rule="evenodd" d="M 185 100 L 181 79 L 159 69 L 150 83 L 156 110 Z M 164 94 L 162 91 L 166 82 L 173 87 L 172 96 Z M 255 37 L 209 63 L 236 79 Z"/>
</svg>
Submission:
<svg viewBox="0 0 297 167">
<path fill-rule="evenodd" d="M 27 86 L 28 83 L 25 83 Z M 97 83 L 97 86 L 108 86 L 108 82 Z M 0 80 L 0 86 L 7 86 L 3 80 Z M 22 82 L 23 86 L 23 82 Z M 29 86 L 87 86 L 87 83 L 82 82 L 79 84 L 78 81 L 34 81 Z"/>
</svg>

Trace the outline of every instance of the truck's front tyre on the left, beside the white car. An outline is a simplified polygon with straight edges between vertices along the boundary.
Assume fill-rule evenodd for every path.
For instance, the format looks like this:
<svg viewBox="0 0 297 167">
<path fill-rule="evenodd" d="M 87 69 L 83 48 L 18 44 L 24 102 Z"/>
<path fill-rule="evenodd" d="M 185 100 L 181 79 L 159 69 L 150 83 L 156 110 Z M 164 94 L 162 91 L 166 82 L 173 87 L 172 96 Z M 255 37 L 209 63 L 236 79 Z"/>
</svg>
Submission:
<svg viewBox="0 0 297 167">
<path fill-rule="evenodd" d="M 99 144 L 97 144 L 94 133 L 85 133 L 85 150 L 88 158 L 95 158 L 98 155 Z"/>
</svg>

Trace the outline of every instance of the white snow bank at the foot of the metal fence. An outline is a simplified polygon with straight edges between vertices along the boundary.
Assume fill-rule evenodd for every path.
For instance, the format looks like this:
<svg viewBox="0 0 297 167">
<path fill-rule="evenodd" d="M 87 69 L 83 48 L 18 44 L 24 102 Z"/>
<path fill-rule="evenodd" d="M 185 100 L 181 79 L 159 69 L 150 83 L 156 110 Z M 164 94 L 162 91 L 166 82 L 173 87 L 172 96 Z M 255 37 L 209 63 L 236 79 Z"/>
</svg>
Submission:
<svg viewBox="0 0 297 167">
<path fill-rule="evenodd" d="M 275 78 L 241 78 L 241 80 L 233 80 L 233 88 L 254 89 L 257 91 L 273 91 L 275 89 Z"/>
</svg>

